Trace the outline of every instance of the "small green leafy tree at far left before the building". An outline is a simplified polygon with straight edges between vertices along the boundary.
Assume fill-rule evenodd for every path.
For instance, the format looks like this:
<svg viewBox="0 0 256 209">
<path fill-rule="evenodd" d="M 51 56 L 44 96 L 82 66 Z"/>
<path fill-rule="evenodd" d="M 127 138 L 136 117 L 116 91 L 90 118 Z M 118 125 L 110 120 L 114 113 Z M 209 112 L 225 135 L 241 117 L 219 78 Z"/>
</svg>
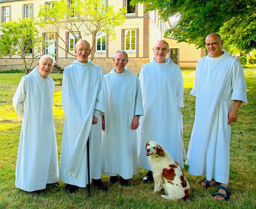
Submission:
<svg viewBox="0 0 256 209">
<path fill-rule="evenodd" d="M 43 38 L 35 27 L 35 23 L 31 18 L 19 19 L 18 22 L 4 22 L 0 28 L 4 33 L 0 39 L 0 56 L 7 54 L 19 55 L 25 65 L 26 74 L 30 70 L 33 62 L 41 56 Z M 32 49 L 31 58 L 28 58 Z M 30 63 L 28 62 L 30 59 Z"/>
</svg>

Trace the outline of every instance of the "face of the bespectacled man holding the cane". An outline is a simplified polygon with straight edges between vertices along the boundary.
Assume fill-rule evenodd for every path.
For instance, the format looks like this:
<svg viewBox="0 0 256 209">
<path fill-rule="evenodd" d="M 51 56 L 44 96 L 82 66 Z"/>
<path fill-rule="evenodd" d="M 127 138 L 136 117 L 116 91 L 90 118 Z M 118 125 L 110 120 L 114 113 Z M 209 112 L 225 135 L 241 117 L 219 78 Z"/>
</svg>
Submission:
<svg viewBox="0 0 256 209">
<path fill-rule="evenodd" d="M 90 44 L 82 40 L 77 41 L 75 54 L 79 62 L 87 63 L 88 56 L 91 54 Z"/>
</svg>

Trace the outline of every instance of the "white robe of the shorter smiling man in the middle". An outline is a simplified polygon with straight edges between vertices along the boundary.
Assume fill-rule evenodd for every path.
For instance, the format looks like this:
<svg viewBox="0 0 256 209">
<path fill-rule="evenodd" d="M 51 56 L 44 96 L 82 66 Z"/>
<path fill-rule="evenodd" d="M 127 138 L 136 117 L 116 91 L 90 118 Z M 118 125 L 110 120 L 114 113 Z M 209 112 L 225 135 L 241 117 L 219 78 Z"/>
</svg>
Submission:
<svg viewBox="0 0 256 209">
<path fill-rule="evenodd" d="M 136 130 L 131 129 L 134 115 L 142 116 L 142 96 L 138 76 L 125 67 L 105 76 L 105 131 L 102 141 L 102 173 L 119 174 L 130 179 L 138 172 Z"/>
</svg>

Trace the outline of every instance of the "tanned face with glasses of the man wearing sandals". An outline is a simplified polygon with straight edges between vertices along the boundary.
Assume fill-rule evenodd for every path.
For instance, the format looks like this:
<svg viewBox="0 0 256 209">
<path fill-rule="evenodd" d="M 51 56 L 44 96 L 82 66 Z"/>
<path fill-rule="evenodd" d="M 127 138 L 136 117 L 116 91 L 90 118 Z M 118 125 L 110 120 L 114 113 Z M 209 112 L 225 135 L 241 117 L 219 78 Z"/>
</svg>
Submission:
<svg viewBox="0 0 256 209">
<path fill-rule="evenodd" d="M 209 52 L 210 56 L 213 58 L 216 58 L 223 54 L 223 52 L 221 51 L 221 47 L 224 42 L 221 41 L 221 39 L 217 35 L 209 35 L 205 39 L 205 43 L 214 43 L 214 42 L 218 42 L 216 46 L 213 46 L 211 44 L 210 46 L 208 46 L 206 48 L 207 48 L 207 51 Z"/>
</svg>

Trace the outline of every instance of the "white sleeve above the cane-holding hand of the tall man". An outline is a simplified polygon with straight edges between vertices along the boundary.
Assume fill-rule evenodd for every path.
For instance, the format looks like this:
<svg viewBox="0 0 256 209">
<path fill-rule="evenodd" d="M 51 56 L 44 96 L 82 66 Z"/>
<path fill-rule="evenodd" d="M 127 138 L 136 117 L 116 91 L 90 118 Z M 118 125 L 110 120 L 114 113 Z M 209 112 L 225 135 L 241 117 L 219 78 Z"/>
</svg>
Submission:
<svg viewBox="0 0 256 209">
<path fill-rule="evenodd" d="M 93 114 L 96 114 L 98 117 L 99 115 L 104 115 L 106 112 L 106 106 L 105 106 L 105 94 L 104 94 L 104 76 L 101 69 L 100 73 L 100 81 L 99 81 L 99 88 L 98 88 L 98 94 L 94 106 L 94 112 Z M 96 118 L 98 118 L 96 115 L 94 115 Z"/>
</svg>

